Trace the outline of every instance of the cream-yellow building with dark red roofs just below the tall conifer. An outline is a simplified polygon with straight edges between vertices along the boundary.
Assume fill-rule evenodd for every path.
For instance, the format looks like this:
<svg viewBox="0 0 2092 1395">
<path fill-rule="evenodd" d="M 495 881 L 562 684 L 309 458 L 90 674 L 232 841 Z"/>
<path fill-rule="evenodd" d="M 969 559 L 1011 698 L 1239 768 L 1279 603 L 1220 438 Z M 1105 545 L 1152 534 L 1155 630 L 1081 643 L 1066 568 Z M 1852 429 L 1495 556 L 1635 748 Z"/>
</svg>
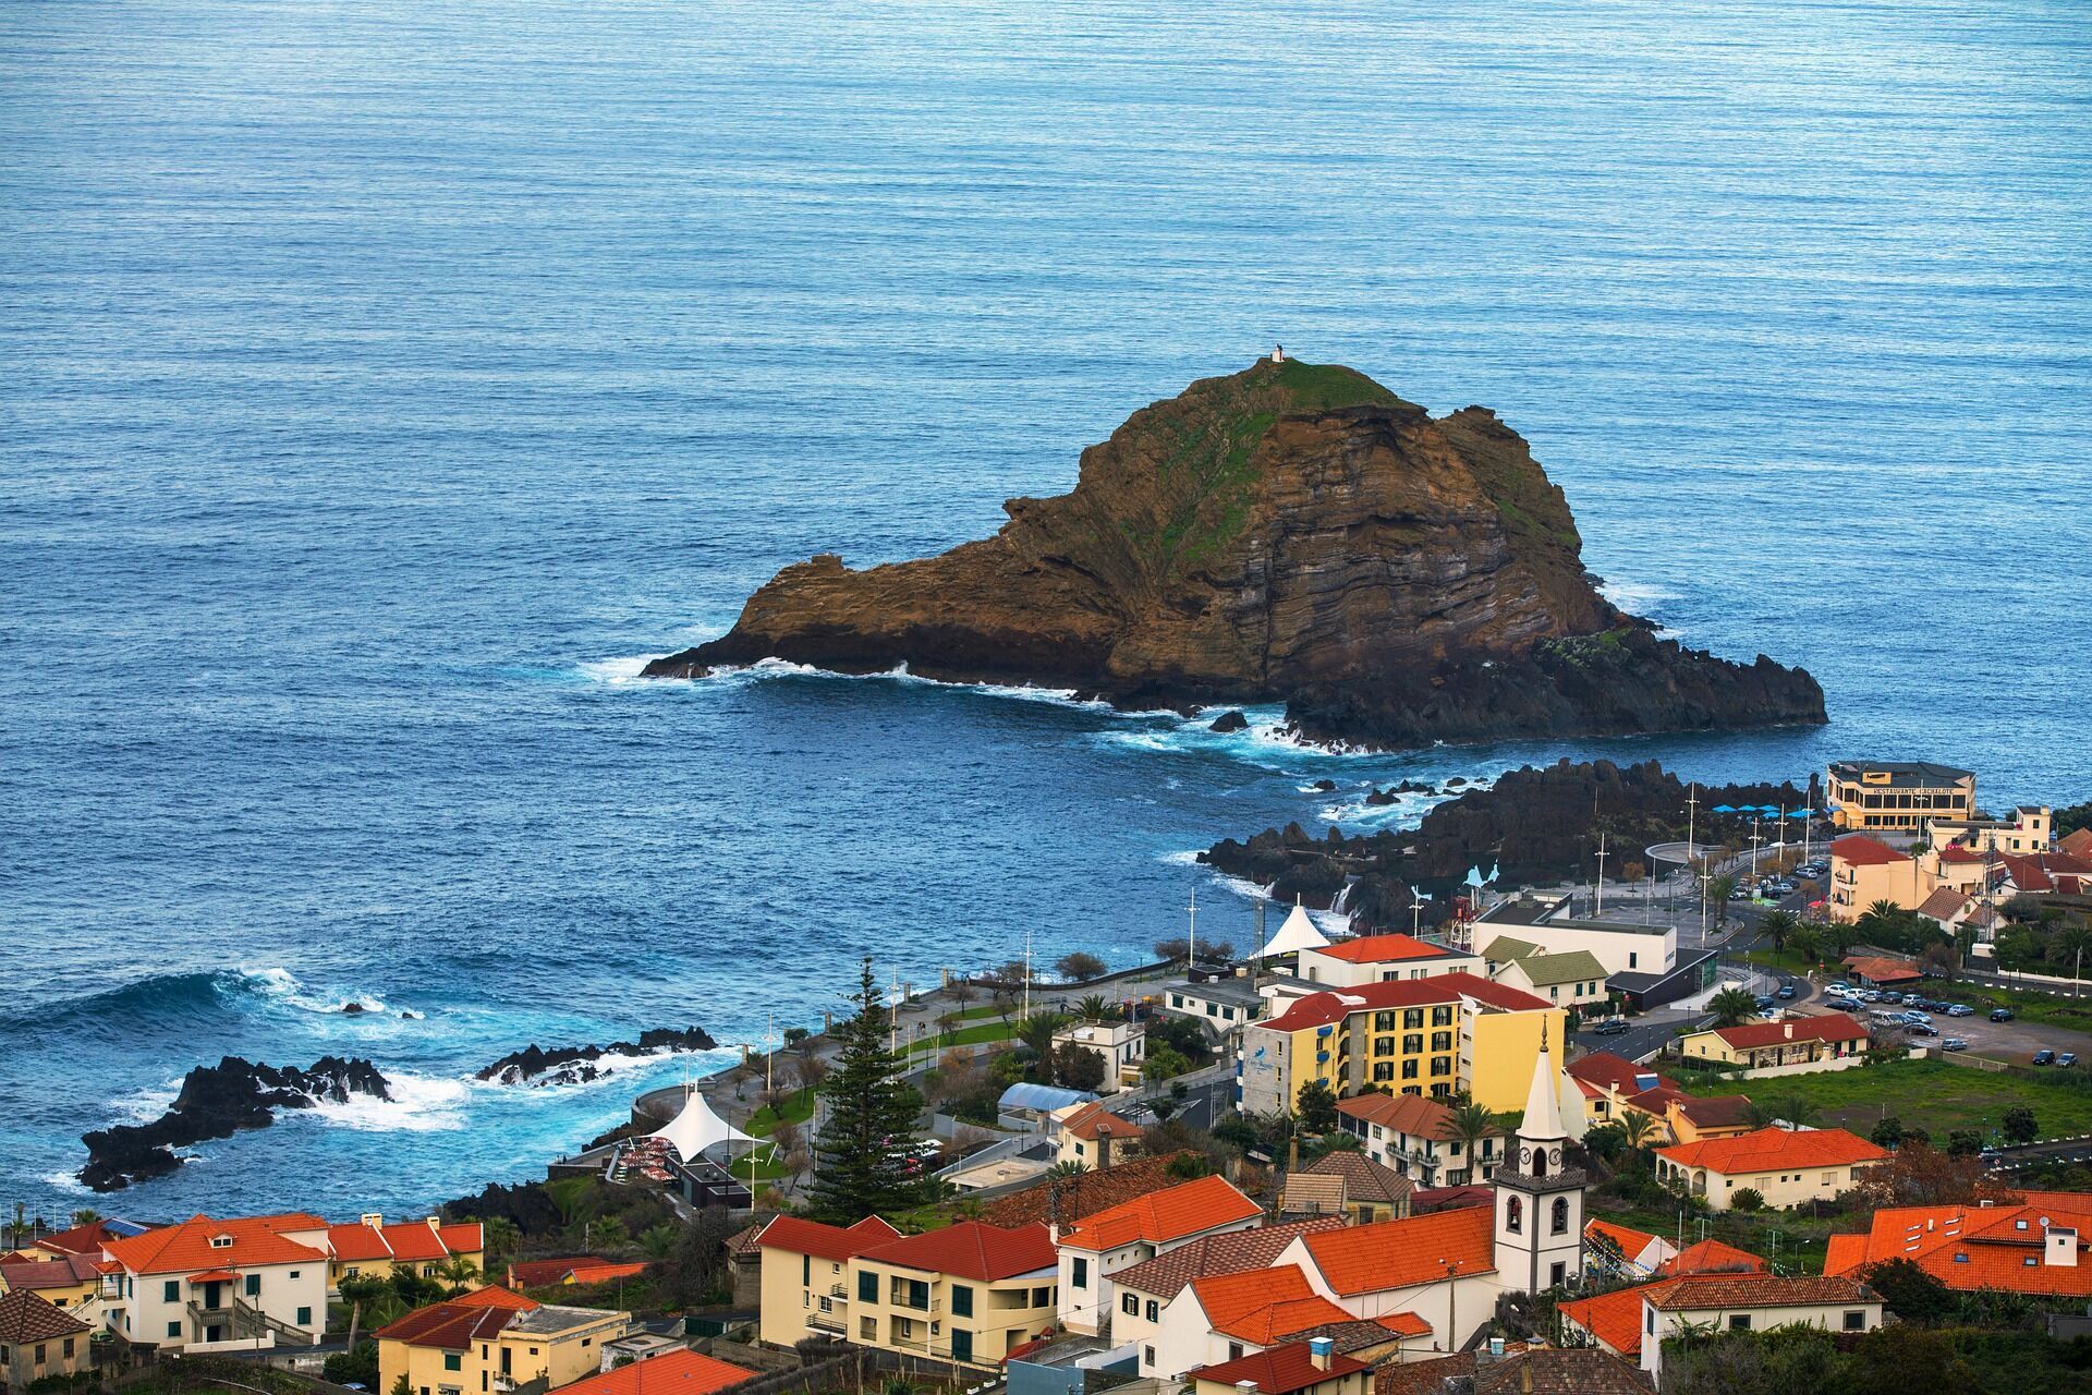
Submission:
<svg viewBox="0 0 2092 1395">
<path fill-rule="evenodd" d="M 994 1370 L 1054 1326 L 1056 1255 L 1044 1226 L 960 1221 L 902 1238 L 879 1238 L 879 1226 L 770 1221 L 757 1236 L 761 1339 L 789 1345 L 812 1330 Z"/>
</svg>

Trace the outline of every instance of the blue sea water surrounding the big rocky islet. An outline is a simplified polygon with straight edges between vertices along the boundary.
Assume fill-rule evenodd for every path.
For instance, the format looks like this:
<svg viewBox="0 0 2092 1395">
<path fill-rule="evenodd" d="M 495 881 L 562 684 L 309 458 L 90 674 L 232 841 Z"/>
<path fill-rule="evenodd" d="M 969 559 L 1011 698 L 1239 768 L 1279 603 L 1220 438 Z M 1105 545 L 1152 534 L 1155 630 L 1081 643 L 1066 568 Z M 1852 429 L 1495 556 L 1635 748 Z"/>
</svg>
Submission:
<svg viewBox="0 0 2092 1395">
<path fill-rule="evenodd" d="M 1366 780 L 1839 755 L 2092 793 L 2084 0 L 0 6 L 0 1203 L 199 1060 L 395 1104 L 130 1215 L 425 1207 L 732 1048 L 1115 962 Z M 634 682 L 776 567 L 937 552 L 1284 341 L 1494 406 L 1615 596 L 1824 730 L 1305 751 L 795 671 Z M 1305 791 L 1335 778 L 1337 795 Z M 360 1000 L 360 1019 L 333 1008 Z M 400 1016 L 410 1010 L 416 1016 Z"/>
</svg>

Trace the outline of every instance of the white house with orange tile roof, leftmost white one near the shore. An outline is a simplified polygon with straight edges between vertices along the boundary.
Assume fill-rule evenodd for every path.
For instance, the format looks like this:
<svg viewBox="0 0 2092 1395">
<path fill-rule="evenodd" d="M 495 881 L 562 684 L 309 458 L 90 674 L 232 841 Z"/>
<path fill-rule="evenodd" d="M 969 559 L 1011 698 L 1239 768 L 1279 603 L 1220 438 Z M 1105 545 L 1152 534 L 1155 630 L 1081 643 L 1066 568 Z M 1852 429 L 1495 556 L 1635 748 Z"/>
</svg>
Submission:
<svg viewBox="0 0 2092 1395">
<path fill-rule="evenodd" d="M 161 1349 L 316 1345 L 326 1330 L 326 1221 L 264 1215 L 178 1226 L 103 1242 L 121 1267 L 109 1328 Z"/>
</svg>

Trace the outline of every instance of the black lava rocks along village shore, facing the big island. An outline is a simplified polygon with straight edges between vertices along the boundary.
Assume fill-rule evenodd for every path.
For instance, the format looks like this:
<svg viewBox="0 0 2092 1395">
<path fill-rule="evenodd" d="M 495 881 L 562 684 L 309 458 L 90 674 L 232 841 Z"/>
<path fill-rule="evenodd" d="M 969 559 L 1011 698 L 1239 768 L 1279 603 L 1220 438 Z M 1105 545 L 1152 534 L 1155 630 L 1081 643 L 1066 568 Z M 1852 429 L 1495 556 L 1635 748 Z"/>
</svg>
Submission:
<svg viewBox="0 0 2092 1395">
<path fill-rule="evenodd" d="M 1803 807 L 1793 784 L 1701 784 L 1699 843 L 1749 839 L 1749 820 L 1720 818 L 1715 805 Z M 1500 887 L 1588 878 L 1598 834 L 1615 851 L 1609 872 L 1640 862 L 1642 849 L 1686 834 L 1686 784 L 1657 761 L 1561 761 L 1506 772 L 1496 784 L 1450 799 L 1410 830 L 1322 837 L 1299 824 L 1266 828 L 1247 843 L 1224 839 L 1199 853 L 1220 872 L 1270 887 L 1278 901 L 1295 897 L 1328 910 L 1341 897 L 1351 927 L 1406 931 L 1410 904 L 1443 897 L 1469 872 L 1496 870 Z M 1443 899 L 1425 899 L 1420 924 L 1448 916 Z"/>
</svg>

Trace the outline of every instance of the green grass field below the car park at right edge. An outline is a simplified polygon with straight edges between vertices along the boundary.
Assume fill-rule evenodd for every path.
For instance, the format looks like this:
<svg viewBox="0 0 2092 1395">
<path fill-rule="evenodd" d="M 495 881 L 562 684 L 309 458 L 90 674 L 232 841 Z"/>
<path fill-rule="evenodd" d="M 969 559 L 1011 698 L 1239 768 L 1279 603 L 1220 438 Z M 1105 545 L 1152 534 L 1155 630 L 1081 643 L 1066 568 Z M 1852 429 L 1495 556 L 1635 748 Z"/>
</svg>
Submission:
<svg viewBox="0 0 2092 1395">
<path fill-rule="evenodd" d="M 1883 1115 L 1895 1115 L 1946 1142 L 1950 1129 L 1998 1127 L 2004 1111 L 2015 1104 L 2033 1111 L 2042 1138 L 2092 1134 L 2092 1077 L 2063 1071 L 1979 1071 L 1946 1060 L 1889 1060 L 1858 1071 L 1745 1081 L 1680 1075 L 1678 1083 L 1690 1094 L 1749 1094 L 1757 1100 L 1799 1096 L 1818 1111 L 1818 1123 L 1839 1125 L 1862 1138 Z"/>
</svg>

